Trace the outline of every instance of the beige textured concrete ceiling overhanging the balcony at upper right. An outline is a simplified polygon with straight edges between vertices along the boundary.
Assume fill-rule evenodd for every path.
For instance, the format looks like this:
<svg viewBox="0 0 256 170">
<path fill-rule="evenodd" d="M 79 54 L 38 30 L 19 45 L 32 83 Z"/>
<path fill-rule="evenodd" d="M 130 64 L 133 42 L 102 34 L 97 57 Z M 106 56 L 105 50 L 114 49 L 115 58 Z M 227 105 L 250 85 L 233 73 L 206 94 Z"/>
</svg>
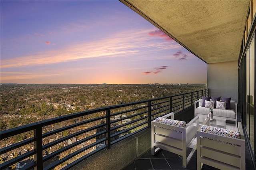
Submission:
<svg viewBox="0 0 256 170">
<path fill-rule="evenodd" d="M 206 63 L 237 61 L 249 0 L 120 0 Z"/>
</svg>

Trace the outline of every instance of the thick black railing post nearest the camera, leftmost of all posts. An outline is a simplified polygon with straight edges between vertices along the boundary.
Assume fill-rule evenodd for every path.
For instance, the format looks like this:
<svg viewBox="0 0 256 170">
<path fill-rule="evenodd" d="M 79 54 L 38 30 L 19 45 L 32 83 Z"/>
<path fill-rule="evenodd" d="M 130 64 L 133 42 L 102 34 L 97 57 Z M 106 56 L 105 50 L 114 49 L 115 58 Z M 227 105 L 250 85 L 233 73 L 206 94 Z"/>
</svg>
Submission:
<svg viewBox="0 0 256 170">
<path fill-rule="evenodd" d="M 34 137 L 36 141 L 34 142 L 34 149 L 36 154 L 34 155 L 34 161 L 36 162 L 35 170 L 43 169 L 43 143 L 42 143 L 42 127 L 34 129 Z"/>
</svg>

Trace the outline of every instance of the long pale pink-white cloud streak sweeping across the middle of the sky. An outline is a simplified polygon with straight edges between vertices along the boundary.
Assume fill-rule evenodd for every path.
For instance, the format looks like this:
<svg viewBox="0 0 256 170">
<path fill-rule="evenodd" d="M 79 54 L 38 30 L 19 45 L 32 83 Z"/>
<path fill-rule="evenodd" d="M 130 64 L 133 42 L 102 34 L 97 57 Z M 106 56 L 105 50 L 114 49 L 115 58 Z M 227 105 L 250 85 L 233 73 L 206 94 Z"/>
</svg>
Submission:
<svg viewBox="0 0 256 170">
<path fill-rule="evenodd" d="M 156 42 L 147 36 L 149 30 L 130 30 L 109 36 L 108 38 L 86 43 L 65 46 L 54 51 L 44 51 L 12 59 L 2 59 L 1 68 L 24 67 L 76 61 L 92 57 L 134 57 L 140 52 L 152 53 L 170 50 L 168 42 Z M 50 42 L 45 42 L 50 44 Z"/>
</svg>

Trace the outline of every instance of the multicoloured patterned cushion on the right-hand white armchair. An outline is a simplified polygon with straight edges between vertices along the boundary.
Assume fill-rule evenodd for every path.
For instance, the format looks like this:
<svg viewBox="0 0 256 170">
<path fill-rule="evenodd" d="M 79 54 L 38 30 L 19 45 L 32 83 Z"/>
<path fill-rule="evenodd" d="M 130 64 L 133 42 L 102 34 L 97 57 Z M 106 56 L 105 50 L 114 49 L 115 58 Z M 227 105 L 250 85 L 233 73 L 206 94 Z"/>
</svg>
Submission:
<svg viewBox="0 0 256 170">
<path fill-rule="evenodd" d="M 212 126 L 206 126 L 206 125 L 202 125 L 201 132 L 216 134 L 216 135 L 225 136 L 228 138 L 238 138 L 238 139 L 241 138 L 239 131 L 229 130 L 229 129 L 225 129 L 225 128 L 212 127 Z"/>
</svg>

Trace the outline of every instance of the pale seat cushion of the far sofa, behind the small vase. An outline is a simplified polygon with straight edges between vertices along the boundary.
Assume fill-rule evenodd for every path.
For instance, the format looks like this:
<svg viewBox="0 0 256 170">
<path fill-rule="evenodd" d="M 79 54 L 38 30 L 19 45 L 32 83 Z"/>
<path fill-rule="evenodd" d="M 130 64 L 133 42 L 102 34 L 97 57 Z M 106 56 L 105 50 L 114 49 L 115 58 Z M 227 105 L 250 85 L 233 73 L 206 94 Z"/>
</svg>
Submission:
<svg viewBox="0 0 256 170">
<path fill-rule="evenodd" d="M 236 119 L 236 112 L 234 109 L 212 109 L 213 110 L 213 117 L 218 116 L 218 117 L 228 117 L 228 118 L 234 118 Z M 196 108 L 196 114 L 203 114 L 203 115 L 208 115 L 209 113 L 209 108 L 205 108 L 202 106 L 199 106 Z"/>
</svg>

